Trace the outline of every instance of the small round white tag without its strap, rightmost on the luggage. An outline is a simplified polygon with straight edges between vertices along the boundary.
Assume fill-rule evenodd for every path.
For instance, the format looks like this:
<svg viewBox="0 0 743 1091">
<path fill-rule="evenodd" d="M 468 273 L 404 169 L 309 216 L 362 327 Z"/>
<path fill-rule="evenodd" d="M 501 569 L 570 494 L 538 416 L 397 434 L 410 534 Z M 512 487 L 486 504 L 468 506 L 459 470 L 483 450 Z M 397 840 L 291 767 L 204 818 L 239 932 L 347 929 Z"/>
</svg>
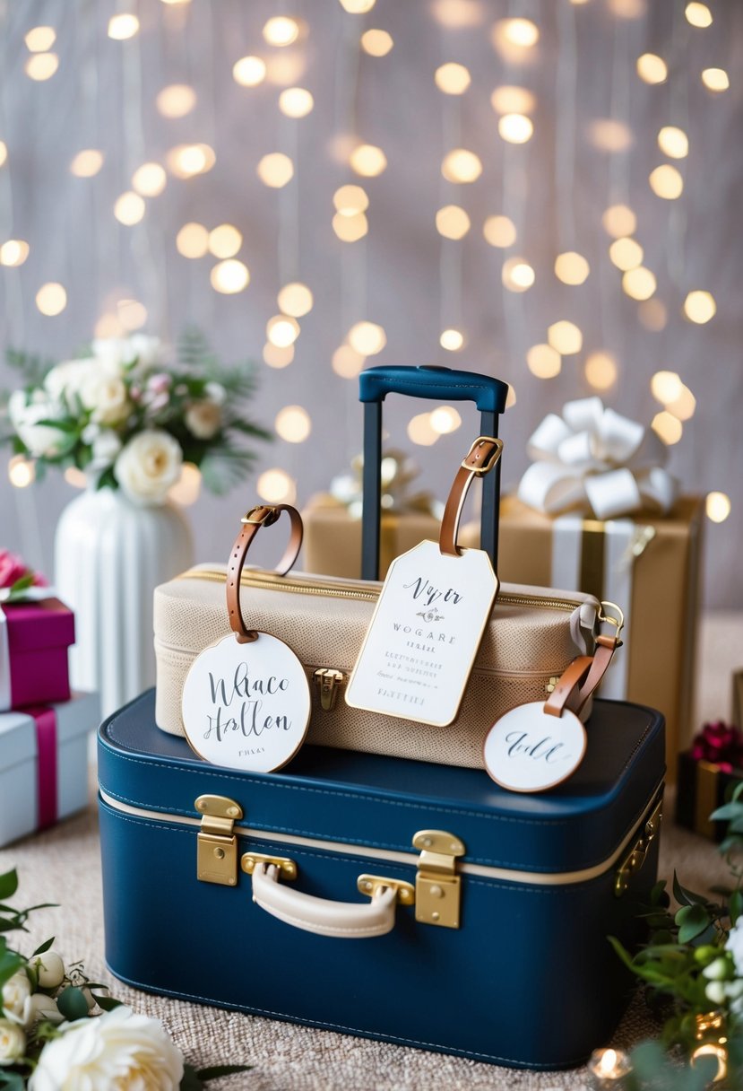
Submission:
<svg viewBox="0 0 743 1091">
<path fill-rule="evenodd" d="M 583 760 L 586 731 L 577 716 L 545 712 L 541 700 L 519 705 L 490 728 L 485 768 L 512 792 L 544 792 L 567 780 Z"/>
</svg>

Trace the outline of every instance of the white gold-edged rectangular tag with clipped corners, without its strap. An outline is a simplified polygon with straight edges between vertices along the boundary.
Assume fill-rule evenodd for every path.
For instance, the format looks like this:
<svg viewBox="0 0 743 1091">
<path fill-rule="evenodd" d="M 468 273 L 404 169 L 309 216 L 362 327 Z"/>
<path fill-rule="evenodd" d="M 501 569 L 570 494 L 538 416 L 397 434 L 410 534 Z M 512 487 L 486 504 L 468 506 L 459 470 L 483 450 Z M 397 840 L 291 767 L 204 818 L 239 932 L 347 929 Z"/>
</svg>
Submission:
<svg viewBox="0 0 743 1091">
<path fill-rule="evenodd" d="M 490 616 L 498 577 L 483 550 L 460 556 L 424 541 L 390 565 L 345 702 L 404 720 L 455 719 Z"/>
</svg>

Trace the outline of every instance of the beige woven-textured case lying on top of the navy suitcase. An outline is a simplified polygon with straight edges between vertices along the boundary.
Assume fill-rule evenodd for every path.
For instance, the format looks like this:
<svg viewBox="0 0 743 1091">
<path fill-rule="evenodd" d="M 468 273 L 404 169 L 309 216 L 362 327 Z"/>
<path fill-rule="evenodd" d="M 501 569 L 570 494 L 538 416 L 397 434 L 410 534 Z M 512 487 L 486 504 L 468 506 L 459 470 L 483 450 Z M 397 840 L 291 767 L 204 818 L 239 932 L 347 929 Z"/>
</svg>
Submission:
<svg viewBox="0 0 743 1091">
<path fill-rule="evenodd" d="M 256 586 L 259 585 L 259 586 Z M 446 728 L 350 708 L 341 691 L 326 711 L 315 691 L 318 668 L 356 661 L 381 584 L 260 570 L 243 574 L 241 602 L 251 628 L 284 640 L 303 662 L 313 691 L 307 742 L 443 765 L 483 765 L 492 723 L 516 705 L 546 697 L 549 679 L 593 651 L 598 602 L 573 591 L 503 585 L 486 628 L 462 706 Z M 202 565 L 155 591 L 156 720 L 183 734 L 181 694 L 194 658 L 227 636 L 224 567 Z"/>
</svg>

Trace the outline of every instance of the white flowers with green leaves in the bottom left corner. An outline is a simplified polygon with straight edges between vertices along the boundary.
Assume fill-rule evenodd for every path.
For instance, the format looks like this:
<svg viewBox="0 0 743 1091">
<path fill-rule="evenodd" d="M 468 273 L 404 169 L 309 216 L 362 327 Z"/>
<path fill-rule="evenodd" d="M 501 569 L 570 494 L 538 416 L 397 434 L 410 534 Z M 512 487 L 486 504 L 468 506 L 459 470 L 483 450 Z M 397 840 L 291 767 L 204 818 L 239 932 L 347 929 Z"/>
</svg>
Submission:
<svg viewBox="0 0 743 1091">
<path fill-rule="evenodd" d="M 32 912 L 4 904 L 16 888 L 15 872 L 0 875 L 0 1091 L 198 1091 L 247 1070 L 197 1071 L 158 1019 L 108 996 L 80 963 L 65 967 L 52 939 L 29 958 L 13 950 L 5 936 L 25 932 Z"/>
</svg>

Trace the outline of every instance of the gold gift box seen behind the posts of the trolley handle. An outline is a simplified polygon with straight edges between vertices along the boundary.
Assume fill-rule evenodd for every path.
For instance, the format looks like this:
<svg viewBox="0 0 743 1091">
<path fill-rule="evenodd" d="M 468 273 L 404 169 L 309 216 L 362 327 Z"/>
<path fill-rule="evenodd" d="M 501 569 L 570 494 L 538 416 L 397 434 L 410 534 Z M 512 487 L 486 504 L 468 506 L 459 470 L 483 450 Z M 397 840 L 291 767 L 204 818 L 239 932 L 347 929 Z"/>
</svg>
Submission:
<svg viewBox="0 0 743 1091">
<path fill-rule="evenodd" d="M 332 496 L 313 496 L 304 519 L 303 568 L 325 576 L 358 579 L 362 567 L 362 523 Z M 437 541 L 439 523 L 423 512 L 382 513 L 379 541 L 380 579 L 395 556 L 426 538 Z"/>
</svg>

